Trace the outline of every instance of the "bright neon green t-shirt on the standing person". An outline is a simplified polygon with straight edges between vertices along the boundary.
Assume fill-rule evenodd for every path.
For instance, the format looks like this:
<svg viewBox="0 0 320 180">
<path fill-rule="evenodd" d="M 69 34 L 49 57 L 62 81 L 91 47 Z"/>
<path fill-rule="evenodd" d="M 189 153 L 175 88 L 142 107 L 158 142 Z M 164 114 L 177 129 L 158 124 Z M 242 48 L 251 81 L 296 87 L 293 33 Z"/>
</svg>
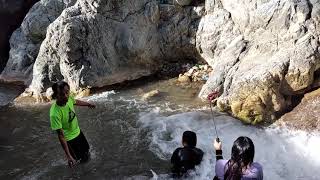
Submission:
<svg viewBox="0 0 320 180">
<path fill-rule="evenodd" d="M 51 129 L 63 129 L 64 137 L 67 141 L 76 138 L 80 134 L 78 119 L 73 107 L 74 104 L 75 99 L 69 96 L 65 106 L 58 106 L 54 101 L 50 108 Z"/>
</svg>

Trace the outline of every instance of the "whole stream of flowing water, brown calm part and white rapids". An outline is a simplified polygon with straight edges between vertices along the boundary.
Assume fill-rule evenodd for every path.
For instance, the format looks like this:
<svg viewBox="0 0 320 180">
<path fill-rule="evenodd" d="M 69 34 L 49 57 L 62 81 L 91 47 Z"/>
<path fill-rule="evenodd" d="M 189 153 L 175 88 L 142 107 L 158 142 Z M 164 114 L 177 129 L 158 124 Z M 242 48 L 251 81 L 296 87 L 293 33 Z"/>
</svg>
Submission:
<svg viewBox="0 0 320 180">
<path fill-rule="evenodd" d="M 160 96 L 142 101 L 141 94 L 153 89 Z M 97 105 L 93 110 L 76 108 L 92 159 L 74 169 L 66 166 L 57 135 L 49 128 L 50 104 L 3 107 L 0 179 L 169 179 L 170 156 L 181 146 L 185 130 L 197 133 L 197 146 L 205 152 L 189 179 L 212 179 L 215 131 L 197 91 L 164 81 L 85 98 Z M 265 179 L 319 179 L 320 135 L 246 126 L 221 113 L 215 113 L 215 120 L 225 158 L 238 136 L 249 136 Z"/>
</svg>

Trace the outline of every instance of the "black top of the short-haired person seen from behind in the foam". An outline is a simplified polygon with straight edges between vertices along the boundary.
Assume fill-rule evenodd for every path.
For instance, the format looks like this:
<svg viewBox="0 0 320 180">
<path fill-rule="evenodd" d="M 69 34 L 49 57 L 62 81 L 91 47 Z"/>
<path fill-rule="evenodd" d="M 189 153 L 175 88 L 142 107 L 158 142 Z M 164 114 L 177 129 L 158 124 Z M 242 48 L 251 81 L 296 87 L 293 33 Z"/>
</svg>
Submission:
<svg viewBox="0 0 320 180">
<path fill-rule="evenodd" d="M 196 147 L 177 148 L 171 157 L 173 176 L 182 176 L 201 163 L 203 151 Z"/>
</svg>

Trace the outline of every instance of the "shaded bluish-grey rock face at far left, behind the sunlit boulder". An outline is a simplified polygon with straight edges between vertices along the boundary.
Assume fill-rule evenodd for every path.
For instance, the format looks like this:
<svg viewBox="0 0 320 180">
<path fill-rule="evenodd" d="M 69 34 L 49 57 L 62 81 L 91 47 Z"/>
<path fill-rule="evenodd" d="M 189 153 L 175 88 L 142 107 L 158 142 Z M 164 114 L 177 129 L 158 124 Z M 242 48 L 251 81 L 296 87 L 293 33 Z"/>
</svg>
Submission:
<svg viewBox="0 0 320 180">
<path fill-rule="evenodd" d="M 5 81 L 22 81 L 29 85 L 32 68 L 47 27 L 75 0 L 42 0 L 24 18 L 21 27 L 10 38 L 9 60 L 1 74 Z"/>
</svg>

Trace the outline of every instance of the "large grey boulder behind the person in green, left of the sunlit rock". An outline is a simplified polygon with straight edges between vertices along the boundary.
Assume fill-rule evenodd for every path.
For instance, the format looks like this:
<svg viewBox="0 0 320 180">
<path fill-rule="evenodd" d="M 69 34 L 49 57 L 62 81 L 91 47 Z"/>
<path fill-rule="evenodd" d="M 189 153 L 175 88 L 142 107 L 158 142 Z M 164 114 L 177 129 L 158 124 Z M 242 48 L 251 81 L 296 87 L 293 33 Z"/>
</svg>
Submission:
<svg viewBox="0 0 320 180">
<path fill-rule="evenodd" d="M 195 39 L 204 12 L 156 0 L 78 0 L 32 50 L 37 58 L 27 91 L 41 97 L 52 82 L 65 80 L 78 92 L 148 76 L 164 61 L 202 59 Z"/>
</svg>

